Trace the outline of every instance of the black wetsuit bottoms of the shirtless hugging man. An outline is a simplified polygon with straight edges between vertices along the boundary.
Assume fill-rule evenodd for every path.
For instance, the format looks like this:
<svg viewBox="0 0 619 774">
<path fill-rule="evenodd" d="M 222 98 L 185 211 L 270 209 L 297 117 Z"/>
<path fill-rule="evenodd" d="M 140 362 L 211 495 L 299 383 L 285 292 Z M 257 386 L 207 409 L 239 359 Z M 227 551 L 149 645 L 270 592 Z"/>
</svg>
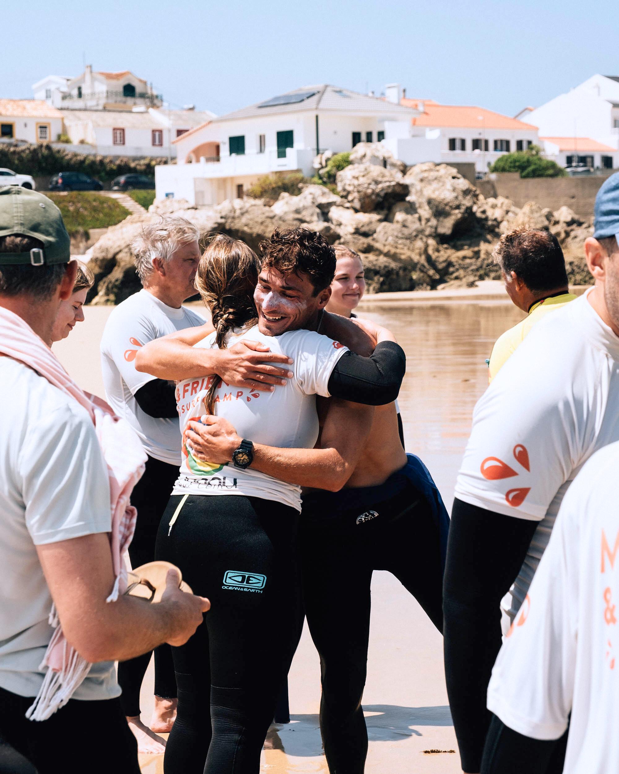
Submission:
<svg viewBox="0 0 619 774">
<path fill-rule="evenodd" d="M 372 572 L 394 574 L 442 631 L 439 532 L 408 482 L 381 502 L 337 515 L 329 513 L 328 497 L 321 502 L 316 510 L 303 505 L 300 531 L 303 601 L 320 654 L 320 731 L 331 774 L 361 774 Z"/>
</svg>

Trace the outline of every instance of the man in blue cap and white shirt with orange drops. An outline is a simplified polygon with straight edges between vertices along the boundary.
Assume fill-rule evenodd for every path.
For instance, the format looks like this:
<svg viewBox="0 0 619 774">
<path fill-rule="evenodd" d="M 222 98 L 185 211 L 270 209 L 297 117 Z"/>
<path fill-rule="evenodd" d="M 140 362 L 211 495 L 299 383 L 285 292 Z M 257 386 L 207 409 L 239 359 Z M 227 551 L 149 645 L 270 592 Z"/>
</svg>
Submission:
<svg viewBox="0 0 619 774">
<path fill-rule="evenodd" d="M 443 593 L 447 691 L 466 774 L 480 772 L 491 718 L 486 694 L 501 648 L 501 598 L 511 591 L 512 620 L 522 611 L 518 626 L 563 496 L 589 457 L 619 440 L 618 234 L 615 174 L 600 188 L 595 233 L 585 243 L 595 285 L 535 326 L 474 410 Z M 535 670 L 527 675 L 518 696 L 537 679 Z M 513 695 L 497 683 L 488 704 L 501 719 L 496 697 L 506 694 Z M 513 709 L 522 717 L 533 700 L 519 701 Z M 560 758 L 562 750 L 550 754 Z M 537 770 L 528 762 L 518 769 Z"/>
</svg>

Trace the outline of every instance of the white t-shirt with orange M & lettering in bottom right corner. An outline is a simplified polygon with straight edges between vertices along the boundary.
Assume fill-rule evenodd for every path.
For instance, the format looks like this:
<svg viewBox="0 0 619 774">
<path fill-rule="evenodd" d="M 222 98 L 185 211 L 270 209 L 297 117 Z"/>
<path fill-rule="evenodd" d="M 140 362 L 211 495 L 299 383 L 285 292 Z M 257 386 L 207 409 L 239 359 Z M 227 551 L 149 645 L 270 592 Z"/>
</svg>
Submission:
<svg viewBox="0 0 619 774">
<path fill-rule="evenodd" d="M 570 487 L 488 687 L 528 737 L 559 738 L 571 711 L 564 774 L 619 772 L 618 469 L 611 444 Z"/>
</svg>

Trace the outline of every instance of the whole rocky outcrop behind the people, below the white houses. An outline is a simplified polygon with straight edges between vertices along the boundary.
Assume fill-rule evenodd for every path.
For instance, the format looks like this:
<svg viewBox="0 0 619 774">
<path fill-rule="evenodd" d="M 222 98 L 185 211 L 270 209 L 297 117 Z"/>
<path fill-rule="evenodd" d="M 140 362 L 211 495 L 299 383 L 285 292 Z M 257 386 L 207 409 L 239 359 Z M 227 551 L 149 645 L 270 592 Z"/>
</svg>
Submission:
<svg viewBox="0 0 619 774">
<path fill-rule="evenodd" d="M 393 166 L 376 163 L 385 157 L 378 156 L 373 144 L 362 145 L 366 147 L 351 154 L 358 163 L 337 175 L 340 195 L 306 185 L 299 196 L 281 194 L 271 207 L 255 199 L 228 200 L 217 207 L 166 199 L 153 204 L 149 214 L 128 217 L 89 251 L 94 303 L 118 303 L 139 289 L 129 245 L 142 224 L 157 214 L 186 217 L 201 235 L 221 231 L 256 252 L 275 228 L 303 225 L 320 231 L 330 244 L 342 243 L 360 253 L 371 292 L 500 279 L 492 250 L 501 235 L 515 228 L 549 228 L 563 246 L 570 282 L 590 282 L 583 242 L 593 234 L 592 224 L 569 207 L 552 213 L 534 202 L 519 209 L 503 197 L 484 199 L 445 164 L 418 164 L 402 175 Z"/>
</svg>

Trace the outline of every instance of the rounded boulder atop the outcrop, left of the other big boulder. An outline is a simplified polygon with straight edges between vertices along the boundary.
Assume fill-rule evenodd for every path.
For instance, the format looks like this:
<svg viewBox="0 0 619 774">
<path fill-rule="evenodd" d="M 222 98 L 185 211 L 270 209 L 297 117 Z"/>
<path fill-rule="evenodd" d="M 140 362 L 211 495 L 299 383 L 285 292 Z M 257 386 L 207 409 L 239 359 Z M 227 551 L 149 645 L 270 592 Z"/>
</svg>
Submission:
<svg viewBox="0 0 619 774">
<path fill-rule="evenodd" d="M 336 184 L 337 193 L 360 212 L 388 210 L 409 194 L 401 173 L 374 164 L 347 166 L 337 173 Z"/>
</svg>

